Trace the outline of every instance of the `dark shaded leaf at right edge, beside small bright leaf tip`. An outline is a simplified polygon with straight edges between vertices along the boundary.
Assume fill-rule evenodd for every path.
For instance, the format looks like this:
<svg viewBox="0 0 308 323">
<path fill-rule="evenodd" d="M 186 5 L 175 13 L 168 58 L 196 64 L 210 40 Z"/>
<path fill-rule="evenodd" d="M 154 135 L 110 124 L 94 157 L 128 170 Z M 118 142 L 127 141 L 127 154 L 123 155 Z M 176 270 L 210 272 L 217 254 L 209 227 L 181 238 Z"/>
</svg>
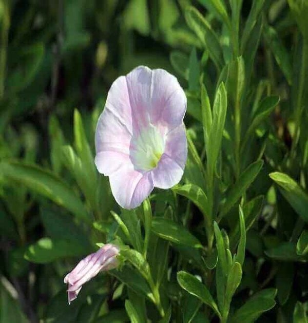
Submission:
<svg viewBox="0 0 308 323">
<path fill-rule="evenodd" d="M 269 258 L 282 261 L 307 261 L 307 256 L 300 256 L 296 253 L 296 244 L 293 242 L 281 242 L 278 246 L 268 249 L 265 254 Z"/>
</svg>

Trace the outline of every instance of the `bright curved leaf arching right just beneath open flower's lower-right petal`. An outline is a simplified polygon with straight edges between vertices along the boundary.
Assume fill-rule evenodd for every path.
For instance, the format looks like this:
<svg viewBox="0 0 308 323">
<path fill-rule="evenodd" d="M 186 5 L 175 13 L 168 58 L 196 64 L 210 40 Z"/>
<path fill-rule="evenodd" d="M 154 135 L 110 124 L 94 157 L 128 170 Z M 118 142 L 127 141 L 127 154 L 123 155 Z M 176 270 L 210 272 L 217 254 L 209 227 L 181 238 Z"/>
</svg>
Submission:
<svg viewBox="0 0 308 323">
<path fill-rule="evenodd" d="M 205 217 L 207 217 L 207 197 L 202 188 L 194 184 L 177 185 L 172 188 L 175 193 L 187 197 L 196 204 Z"/>
</svg>

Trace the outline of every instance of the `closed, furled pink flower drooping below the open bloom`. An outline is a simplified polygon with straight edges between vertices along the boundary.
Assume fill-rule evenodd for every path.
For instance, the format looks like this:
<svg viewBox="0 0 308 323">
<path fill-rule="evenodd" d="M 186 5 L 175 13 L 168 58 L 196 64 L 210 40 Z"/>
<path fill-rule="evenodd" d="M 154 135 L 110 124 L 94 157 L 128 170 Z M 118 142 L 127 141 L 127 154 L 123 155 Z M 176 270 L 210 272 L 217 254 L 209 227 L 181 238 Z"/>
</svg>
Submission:
<svg viewBox="0 0 308 323">
<path fill-rule="evenodd" d="M 64 282 L 68 283 L 68 303 L 77 298 L 84 283 L 95 277 L 100 271 L 107 271 L 118 266 L 119 248 L 113 244 L 105 244 L 97 252 L 82 259 L 68 273 Z"/>
</svg>

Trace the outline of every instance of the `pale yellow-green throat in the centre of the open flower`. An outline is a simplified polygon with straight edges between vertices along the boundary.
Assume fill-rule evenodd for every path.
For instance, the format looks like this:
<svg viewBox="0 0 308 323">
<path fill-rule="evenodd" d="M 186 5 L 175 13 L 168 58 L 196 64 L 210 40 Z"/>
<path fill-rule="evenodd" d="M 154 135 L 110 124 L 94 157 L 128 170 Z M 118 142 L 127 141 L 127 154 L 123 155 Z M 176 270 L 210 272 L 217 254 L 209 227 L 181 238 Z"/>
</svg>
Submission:
<svg viewBox="0 0 308 323">
<path fill-rule="evenodd" d="M 137 138 L 132 138 L 130 156 L 136 169 L 151 170 L 155 168 L 164 153 L 165 139 L 159 131 L 150 126 Z"/>
</svg>

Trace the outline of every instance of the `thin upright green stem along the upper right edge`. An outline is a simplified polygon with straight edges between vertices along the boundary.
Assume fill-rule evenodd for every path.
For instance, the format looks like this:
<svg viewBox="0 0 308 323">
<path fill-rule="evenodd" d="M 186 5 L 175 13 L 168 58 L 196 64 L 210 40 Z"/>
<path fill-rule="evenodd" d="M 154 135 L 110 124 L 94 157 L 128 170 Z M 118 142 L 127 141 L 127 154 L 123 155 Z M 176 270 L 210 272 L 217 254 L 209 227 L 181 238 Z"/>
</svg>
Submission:
<svg viewBox="0 0 308 323">
<path fill-rule="evenodd" d="M 304 93 L 304 86 L 305 86 L 305 74 L 306 74 L 306 69 L 308 68 L 308 66 L 306 66 L 307 59 L 308 59 L 308 42 L 305 42 L 305 40 L 303 40 L 301 66 L 299 69 L 297 101 L 295 106 L 295 131 L 294 131 L 294 138 L 293 138 L 292 147 L 291 147 L 292 158 L 295 157 L 295 148 L 297 146 L 299 135 L 300 135 L 300 122 L 301 122 L 301 115 L 303 110 L 302 105 L 303 105 L 303 93 Z"/>
</svg>

